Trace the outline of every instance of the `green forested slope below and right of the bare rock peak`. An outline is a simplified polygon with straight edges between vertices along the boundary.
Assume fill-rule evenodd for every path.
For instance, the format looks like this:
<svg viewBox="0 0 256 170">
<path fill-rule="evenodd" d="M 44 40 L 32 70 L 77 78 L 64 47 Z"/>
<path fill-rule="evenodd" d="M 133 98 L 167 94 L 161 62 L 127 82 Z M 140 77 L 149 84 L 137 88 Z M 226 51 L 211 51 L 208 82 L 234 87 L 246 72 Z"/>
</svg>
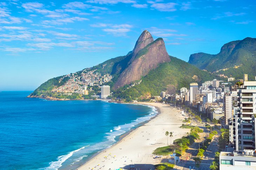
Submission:
<svg viewBox="0 0 256 170">
<path fill-rule="evenodd" d="M 114 92 L 115 97 L 131 99 L 145 98 L 146 95 L 160 95 L 161 91 L 174 94 L 182 87 L 189 88 L 191 82 L 199 85 L 204 81 L 213 79 L 221 80 L 220 77 L 202 71 L 186 61 L 170 56 L 171 61 L 160 64 L 159 67 L 142 77 L 140 84 L 128 88 L 124 86 Z"/>
</svg>

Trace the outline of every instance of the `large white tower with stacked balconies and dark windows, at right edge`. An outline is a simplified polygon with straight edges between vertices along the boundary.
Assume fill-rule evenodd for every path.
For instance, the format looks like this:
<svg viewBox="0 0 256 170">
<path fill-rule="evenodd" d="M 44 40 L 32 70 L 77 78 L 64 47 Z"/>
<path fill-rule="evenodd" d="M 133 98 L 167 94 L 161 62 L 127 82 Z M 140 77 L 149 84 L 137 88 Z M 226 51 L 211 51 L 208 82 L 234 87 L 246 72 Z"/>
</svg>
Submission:
<svg viewBox="0 0 256 170">
<path fill-rule="evenodd" d="M 235 149 L 255 150 L 256 81 L 244 81 L 244 89 L 238 91 L 238 107 L 234 108 L 233 123 L 230 123 L 230 136 L 233 136 Z"/>
</svg>

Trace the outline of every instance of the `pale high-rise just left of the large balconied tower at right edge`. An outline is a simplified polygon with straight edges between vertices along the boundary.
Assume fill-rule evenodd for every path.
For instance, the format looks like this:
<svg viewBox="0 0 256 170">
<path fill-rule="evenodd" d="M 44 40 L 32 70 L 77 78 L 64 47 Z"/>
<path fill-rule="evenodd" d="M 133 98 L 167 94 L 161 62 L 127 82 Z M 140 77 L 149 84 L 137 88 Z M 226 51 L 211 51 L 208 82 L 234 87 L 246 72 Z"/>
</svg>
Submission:
<svg viewBox="0 0 256 170">
<path fill-rule="evenodd" d="M 229 120 L 233 117 L 233 109 L 237 107 L 237 92 L 224 94 L 223 100 L 224 121 L 225 125 L 228 125 Z"/>
</svg>

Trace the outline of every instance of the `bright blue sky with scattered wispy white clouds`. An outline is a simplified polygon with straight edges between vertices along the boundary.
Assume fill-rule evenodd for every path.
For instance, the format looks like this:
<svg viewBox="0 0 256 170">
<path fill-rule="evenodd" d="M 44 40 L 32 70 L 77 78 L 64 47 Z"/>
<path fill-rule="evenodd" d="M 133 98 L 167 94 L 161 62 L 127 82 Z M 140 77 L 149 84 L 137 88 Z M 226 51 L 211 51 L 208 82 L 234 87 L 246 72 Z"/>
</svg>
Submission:
<svg viewBox="0 0 256 170">
<path fill-rule="evenodd" d="M 256 37 L 255 0 L 6 0 L 0 2 L 0 90 L 34 90 L 133 50 L 143 30 L 169 55 L 217 54 Z"/>
</svg>

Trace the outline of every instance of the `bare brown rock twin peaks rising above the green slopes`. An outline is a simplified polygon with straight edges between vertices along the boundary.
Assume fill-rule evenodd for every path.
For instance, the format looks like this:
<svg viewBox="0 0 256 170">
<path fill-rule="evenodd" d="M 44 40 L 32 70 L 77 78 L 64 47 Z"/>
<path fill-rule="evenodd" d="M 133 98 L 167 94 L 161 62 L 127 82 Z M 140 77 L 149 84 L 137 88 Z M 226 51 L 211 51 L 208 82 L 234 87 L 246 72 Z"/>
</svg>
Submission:
<svg viewBox="0 0 256 170">
<path fill-rule="evenodd" d="M 131 55 L 129 65 L 114 85 L 115 90 L 140 80 L 142 76 L 147 75 L 151 69 L 156 68 L 160 63 L 170 61 L 163 39 L 157 38 L 153 41 L 153 37 L 147 30 L 142 32 Z"/>
</svg>

